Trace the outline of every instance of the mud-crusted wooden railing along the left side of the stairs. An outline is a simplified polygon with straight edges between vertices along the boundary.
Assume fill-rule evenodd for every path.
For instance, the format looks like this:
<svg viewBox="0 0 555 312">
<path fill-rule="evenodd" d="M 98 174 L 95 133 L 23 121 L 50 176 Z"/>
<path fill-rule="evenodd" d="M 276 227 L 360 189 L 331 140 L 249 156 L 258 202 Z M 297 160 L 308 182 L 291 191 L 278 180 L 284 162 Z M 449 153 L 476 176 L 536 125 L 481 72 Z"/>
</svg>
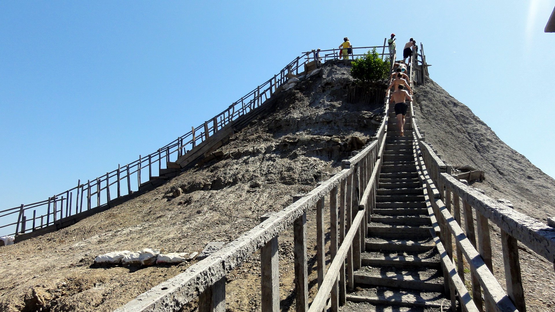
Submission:
<svg viewBox="0 0 555 312">
<path fill-rule="evenodd" d="M 385 111 L 388 110 L 386 99 Z M 278 235 L 294 228 L 295 301 L 297 311 L 309 309 L 306 211 L 316 207 L 316 259 L 319 293 L 310 310 L 322 311 L 331 293 L 332 311 L 345 303 L 346 289 L 352 288 L 354 270 L 361 266 L 370 209 L 376 200 L 381 155 L 386 140 L 384 118 L 371 144 L 344 160 L 344 169 L 280 212 L 265 215 L 263 222 L 225 248 L 191 265 L 184 273 L 155 286 L 117 311 L 180 311 L 198 299 L 199 311 L 225 311 L 225 276 L 261 250 L 261 296 L 263 311 L 279 311 Z M 325 203 L 330 209 L 330 254 L 326 272 L 324 224 Z M 347 265 L 345 265 L 345 261 Z M 320 308 L 315 308 L 320 307 Z M 314 310 L 314 311 L 316 311 Z"/>
</svg>

